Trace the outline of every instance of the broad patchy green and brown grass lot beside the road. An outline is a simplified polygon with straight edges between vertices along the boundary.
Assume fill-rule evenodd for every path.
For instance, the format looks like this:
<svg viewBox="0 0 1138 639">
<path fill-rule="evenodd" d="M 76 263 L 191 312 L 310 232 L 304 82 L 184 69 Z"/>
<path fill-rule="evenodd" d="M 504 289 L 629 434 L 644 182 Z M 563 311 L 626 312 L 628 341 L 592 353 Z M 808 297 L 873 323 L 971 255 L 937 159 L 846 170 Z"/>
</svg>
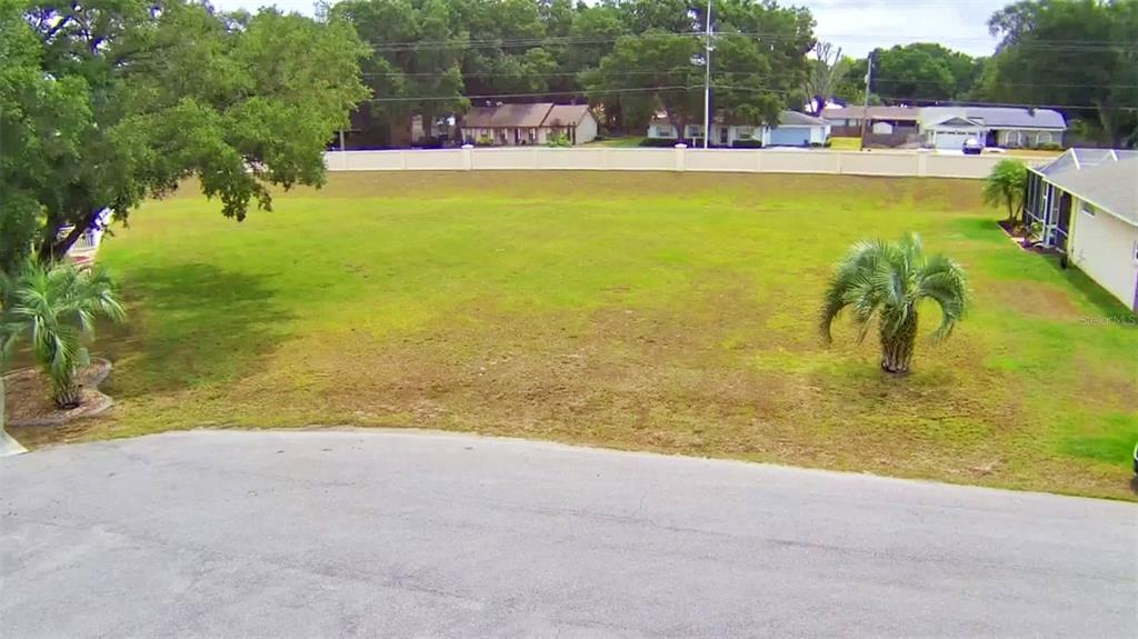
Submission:
<svg viewBox="0 0 1138 639">
<path fill-rule="evenodd" d="M 154 202 L 104 259 L 132 323 L 110 416 L 33 442 L 200 425 L 424 426 L 1132 496 L 1138 326 L 1020 250 L 967 181 L 332 174 L 224 219 Z M 815 329 L 860 238 L 921 232 L 975 309 L 915 372 Z M 930 309 L 924 332 L 937 321 Z"/>
</svg>

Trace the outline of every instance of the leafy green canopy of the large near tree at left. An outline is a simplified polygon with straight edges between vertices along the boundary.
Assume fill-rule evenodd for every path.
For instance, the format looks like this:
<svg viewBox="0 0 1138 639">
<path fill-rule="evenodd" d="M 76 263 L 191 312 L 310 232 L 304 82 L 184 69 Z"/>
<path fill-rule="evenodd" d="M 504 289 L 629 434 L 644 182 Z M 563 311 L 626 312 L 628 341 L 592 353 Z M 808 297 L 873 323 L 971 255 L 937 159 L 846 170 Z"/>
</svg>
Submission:
<svg viewBox="0 0 1138 639">
<path fill-rule="evenodd" d="M 271 184 L 319 185 L 365 52 L 343 20 L 274 9 L 0 0 L 0 267 L 191 175 L 237 219 Z"/>
</svg>

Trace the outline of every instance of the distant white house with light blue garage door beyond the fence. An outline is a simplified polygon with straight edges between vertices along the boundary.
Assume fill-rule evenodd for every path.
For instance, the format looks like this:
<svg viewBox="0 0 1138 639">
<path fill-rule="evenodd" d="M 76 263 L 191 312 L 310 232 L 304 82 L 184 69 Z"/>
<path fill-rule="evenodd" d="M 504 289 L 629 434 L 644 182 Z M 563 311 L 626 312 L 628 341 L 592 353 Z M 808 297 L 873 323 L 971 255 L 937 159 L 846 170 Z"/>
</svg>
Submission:
<svg viewBox="0 0 1138 639">
<path fill-rule="evenodd" d="M 687 124 L 679 135 L 667 116 L 658 115 L 648 127 L 648 136 L 658 140 L 702 140 L 703 124 Z M 711 126 L 711 144 L 716 147 L 744 147 L 761 143 L 764 147 L 820 147 L 830 136 L 830 125 L 816 117 L 798 111 L 782 111 L 778 124 L 729 124 L 717 119 Z"/>
</svg>

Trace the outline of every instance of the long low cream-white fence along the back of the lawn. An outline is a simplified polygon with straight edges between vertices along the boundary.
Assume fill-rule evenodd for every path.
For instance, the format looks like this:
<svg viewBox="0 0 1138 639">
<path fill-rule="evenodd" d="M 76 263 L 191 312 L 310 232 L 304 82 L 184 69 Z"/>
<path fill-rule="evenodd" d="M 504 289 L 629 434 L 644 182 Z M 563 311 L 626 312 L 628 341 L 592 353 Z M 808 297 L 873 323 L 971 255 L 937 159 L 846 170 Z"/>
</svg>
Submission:
<svg viewBox="0 0 1138 639">
<path fill-rule="evenodd" d="M 329 151 L 324 161 L 329 171 L 691 171 L 974 180 L 986 177 L 1000 159 L 923 151 L 525 147 Z"/>
</svg>

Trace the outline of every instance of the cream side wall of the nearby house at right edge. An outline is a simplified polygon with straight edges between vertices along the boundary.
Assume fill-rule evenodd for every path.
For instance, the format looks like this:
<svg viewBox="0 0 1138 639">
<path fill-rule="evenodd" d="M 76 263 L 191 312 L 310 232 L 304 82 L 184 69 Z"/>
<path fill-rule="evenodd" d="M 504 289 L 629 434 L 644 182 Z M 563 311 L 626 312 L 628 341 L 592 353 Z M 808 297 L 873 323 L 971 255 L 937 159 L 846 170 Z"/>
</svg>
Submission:
<svg viewBox="0 0 1138 639">
<path fill-rule="evenodd" d="M 1127 308 L 1136 308 L 1138 263 L 1135 247 L 1138 226 L 1131 226 L 1113 215 L 1098 210 L 1094 216 L 1082 213 L 1082 200 L 1074 198 L 1071 213 L 1074 233 L 1071 238 L 1071 260 L 1119 298 Z"/>
</svg>

